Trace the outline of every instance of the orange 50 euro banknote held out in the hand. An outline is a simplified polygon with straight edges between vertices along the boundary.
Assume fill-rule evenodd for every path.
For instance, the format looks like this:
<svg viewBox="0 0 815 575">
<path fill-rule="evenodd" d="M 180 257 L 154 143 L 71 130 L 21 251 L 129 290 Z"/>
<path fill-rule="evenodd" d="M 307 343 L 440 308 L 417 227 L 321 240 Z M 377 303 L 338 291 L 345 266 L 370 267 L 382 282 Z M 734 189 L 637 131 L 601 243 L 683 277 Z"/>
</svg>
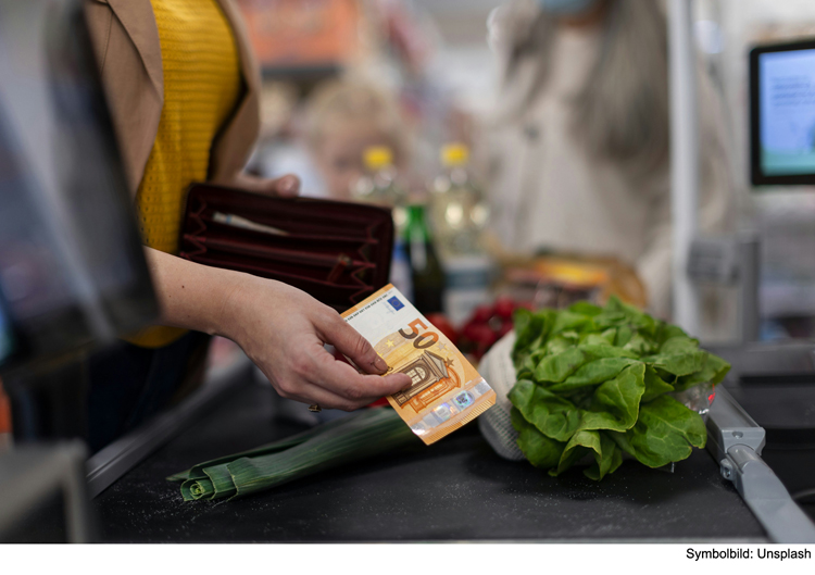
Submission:
<svg viewBox="0 0 815 575">
<path fill-rule="evenodd" d="M 496 392 L 459 349 L 392 285 L 342 314 L 387 362 L 413 384 L 388 402 L 430 445 L 490 409 Z"/>
</svg>

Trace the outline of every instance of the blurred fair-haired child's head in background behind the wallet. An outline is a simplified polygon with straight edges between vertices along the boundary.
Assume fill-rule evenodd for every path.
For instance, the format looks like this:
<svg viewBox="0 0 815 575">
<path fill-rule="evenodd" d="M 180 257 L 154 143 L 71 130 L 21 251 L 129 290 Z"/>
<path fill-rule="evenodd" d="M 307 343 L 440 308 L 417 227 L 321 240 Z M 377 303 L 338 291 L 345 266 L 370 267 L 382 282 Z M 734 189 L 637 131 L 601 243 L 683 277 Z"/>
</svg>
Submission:
<svg viewBox="0 0 815 575">
<path fill-rule="evenodd" d="M 406 127 L 396 99 L 369 82 L 330 80 L 311 96 L 305 111 L 305 143 L 326 196 L 352 200 L 365 175 L 365 149 L 384 146 L 402 171 L 408 163 Z"/>
</svg>

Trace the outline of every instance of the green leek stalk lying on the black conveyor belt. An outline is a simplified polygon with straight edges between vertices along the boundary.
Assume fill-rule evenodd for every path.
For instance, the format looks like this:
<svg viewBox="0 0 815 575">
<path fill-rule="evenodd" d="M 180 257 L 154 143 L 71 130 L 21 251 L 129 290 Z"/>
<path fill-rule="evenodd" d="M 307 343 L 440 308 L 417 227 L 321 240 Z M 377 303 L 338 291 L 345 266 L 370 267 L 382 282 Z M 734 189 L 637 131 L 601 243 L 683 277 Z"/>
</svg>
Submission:
<svg viewBox="0 0 815 575">
<path fill-rule="evenodd" d="M 243 497 L 338 465 L 418 443 L 390 408 L 367 409 L 250 451 L 171 475 L 185 501 Z"/>
</svg>

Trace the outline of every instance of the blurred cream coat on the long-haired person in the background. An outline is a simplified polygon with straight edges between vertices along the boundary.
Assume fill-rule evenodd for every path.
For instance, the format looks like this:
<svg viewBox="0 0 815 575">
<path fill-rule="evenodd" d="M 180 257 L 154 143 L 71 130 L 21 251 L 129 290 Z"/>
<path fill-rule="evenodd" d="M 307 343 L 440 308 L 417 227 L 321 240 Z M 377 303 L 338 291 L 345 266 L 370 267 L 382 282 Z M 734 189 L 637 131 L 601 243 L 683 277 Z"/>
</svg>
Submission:
<svg viewBox="0 0 815 575">
<path fill-rule="evenodd" d="M 493 223 L 504 247 L 532 253 L 541 248 L 614 255 L 643 279 L 650 311 L 670 315 L 672 218 L 667 163 L 635 175 L 626 166 L 597 160 L 574 137 L 572 99 L 593 67 L 597 33 L 557 32 L 551 78 L 523 113 L 499 112 L 488 134 L 488 180 Z M 595 37 L 597 36 L 597 37 Z M 525 62 L 501 102 L 519 101 L 536 67 Z M 710 83 L 700 86 L 702 118 L 700 230 L 722 234 L 735 215 L 723 114 Z M 707 298 L 709 299 L 709 298 Z M 705 303 L 707 311 L 713 304 Z M 723 312 L 724 313 L 724 312 Z M 728 312 L 729 313 L 729 312 Z M 727 321 L 729 322 L 729 320 Z M 715 315 L 722 329 L 727 322 Z M 718 329 L 705 336 L 720 339 Z"/>
</svg>

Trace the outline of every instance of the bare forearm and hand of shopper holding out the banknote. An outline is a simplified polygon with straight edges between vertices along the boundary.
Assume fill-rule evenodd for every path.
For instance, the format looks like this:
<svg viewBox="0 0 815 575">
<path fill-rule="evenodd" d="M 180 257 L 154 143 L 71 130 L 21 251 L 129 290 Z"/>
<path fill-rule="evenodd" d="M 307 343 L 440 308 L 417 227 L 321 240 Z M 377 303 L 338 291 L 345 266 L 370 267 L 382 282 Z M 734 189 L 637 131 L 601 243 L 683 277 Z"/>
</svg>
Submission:
<svg viewBox="0 0 815 575">
<path fill-rule="evenodd" d="M 340 315 L 279 282 L 208 267 L 145 249 L 164 325 L 227 337 L 238 343 L 285 398 L 346 411 L 404 389 Z M 365 374 L 334 359 L 330 343 Z"/>
</svg>

